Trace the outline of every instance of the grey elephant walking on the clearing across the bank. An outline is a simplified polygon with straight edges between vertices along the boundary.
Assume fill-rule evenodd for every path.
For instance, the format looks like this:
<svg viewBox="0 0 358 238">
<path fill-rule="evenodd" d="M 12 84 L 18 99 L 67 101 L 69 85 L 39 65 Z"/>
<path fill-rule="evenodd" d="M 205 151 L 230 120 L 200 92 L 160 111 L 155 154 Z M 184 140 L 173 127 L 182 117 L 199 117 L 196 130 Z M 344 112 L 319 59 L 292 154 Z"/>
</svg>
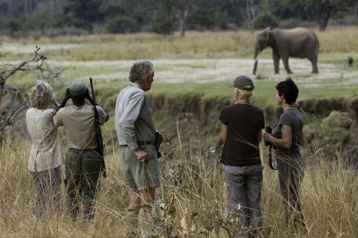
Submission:
<svg viewBox="0 0 358 238">
<path fill-rule="evenodd" d="M 257 35 L 255 42 L 255 65 L 253 74 L 256 73 L 257 56 L 267 46 L 272 48 L 275 74 L 279 73 L 279 62 L 282 58 L 287 74 L 292 74 L 288 66 L 288 57 L 307 58 L 312 64 L 312 74 L 318 74 L 317 59 L 319 42 L 316 34 L 306 28 L 264 29 Z"/>
</svg>

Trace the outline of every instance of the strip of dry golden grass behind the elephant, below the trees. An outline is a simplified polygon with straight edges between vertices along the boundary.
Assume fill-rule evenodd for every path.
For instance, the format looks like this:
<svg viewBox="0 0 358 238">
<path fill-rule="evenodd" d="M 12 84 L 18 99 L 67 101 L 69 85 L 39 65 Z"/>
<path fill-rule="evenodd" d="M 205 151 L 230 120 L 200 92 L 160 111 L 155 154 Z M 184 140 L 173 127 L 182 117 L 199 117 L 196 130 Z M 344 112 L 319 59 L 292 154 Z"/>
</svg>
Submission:
<svg viewBox="0 0 358 238">
<path fill-rule="evenodd" d="M 354 26 L 329 27 L 325 32 L 312 29 L 320 41 L 320 53 L 358 52 L 358 29 Z M 51 59 L 68 60 L 119 60 L 160 58 L 253 58 L 256 34 L 238 31 L 187 31 L 162 36 L 153 33 L 103 34 L 84 36 L 41 37 L 40 39 L 4 38 L 4 42 L 26 45 L 58 44 L 60 53 L 50 54 Z M 62 49 L 61 44 L 75 44 Z M 263 54 L 271 57 L 271 51 Z"/>
</svg>

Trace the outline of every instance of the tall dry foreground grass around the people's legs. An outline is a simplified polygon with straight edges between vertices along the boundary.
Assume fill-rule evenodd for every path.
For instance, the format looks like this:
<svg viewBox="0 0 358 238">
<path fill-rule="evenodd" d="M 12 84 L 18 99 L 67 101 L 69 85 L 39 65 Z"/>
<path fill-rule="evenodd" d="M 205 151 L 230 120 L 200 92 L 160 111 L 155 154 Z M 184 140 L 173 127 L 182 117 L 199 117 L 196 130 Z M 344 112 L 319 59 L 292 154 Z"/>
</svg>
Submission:
<svg viewBox="0 0 358 238">
<path fill-rule="evenodd" d="M 218 152 L 203 145 L 198 131 L 189 133 L 189 146 L 173 151 L 170 140 L 162 150 L 162 186 L 156 191 L 153 217 L 143 222 L 148 237 L 231 237 L 238 225 L 230 216 L 230 199 L 219 164 Z M 36 219 L 35 187 L 27 170 L 30 145 L 10 139 L 1 150 L 0 237 L 138 237 L 125 224 L 128 190 L 117 145 L 108 146 L 108 177 L 101 181 L 97 210 L 92 222 L 73 221 L 62 206 Z M 263 162 L 267 165 L 267 148 Z M 317 153 L 316 153 L 317 152 Z M 285 226 L 277 172 L 265 166 L 261 193 L 263 235 L 267 237 L 357 237 L 357 171 L 345 158 L 327 161 L 319 148 L 304 159 L 307 163 L 301 203 L 307 230 Z M 136 233 L 137 232 L 137 233 Z"/>
</svg>

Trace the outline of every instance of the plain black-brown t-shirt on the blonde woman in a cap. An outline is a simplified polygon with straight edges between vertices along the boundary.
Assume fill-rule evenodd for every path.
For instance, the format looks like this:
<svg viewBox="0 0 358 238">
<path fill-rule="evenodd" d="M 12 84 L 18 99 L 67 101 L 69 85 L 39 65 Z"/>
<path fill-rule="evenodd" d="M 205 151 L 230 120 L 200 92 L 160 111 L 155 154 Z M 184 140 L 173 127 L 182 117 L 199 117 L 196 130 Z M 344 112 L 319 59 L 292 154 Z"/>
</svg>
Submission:
<svg viewBox="0 0 358 238">
<path fill-rule="evenodd" d="M 219 120 L 228 126 L 220 162 L 231 166 L 260 164 L 259 131 L 265 127 L 263 111 L 252 104 L 221 108 Z"/>
</svg>

